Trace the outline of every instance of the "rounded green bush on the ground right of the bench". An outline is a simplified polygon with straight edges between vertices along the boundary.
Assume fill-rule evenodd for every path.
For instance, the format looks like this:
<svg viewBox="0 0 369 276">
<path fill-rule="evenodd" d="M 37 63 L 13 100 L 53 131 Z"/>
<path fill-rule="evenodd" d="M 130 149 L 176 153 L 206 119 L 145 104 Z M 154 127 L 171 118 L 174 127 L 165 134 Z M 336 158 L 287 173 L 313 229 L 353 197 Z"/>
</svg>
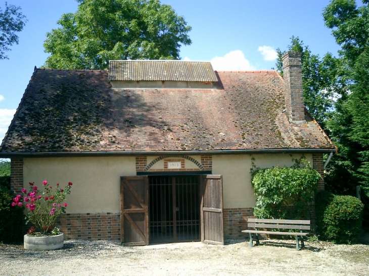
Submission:
<svg viewBox="0 0 369 276">
<path fill-rule="evenodd" d="M 321 239 L 356 243 L 361 234 L 364 205 L 352 196 L 320 191 L 316 195 L 316 224 Z"/>
</svg>

